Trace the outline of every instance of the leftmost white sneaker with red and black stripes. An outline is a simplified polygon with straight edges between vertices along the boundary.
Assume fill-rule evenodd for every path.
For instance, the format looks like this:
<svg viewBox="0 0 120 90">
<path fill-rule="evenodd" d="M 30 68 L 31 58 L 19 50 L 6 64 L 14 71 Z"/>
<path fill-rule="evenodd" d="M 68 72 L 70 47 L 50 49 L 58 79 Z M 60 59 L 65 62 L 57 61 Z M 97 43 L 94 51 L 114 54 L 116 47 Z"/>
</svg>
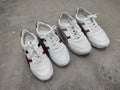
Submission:
<svg viewBox="0 0 120 90">
<path fill-rule="evenodd" d="M 53 75 L 53 67 L 37 37 L 24 29 L 21 32 L 21 45 L 32 73 L 40 80 L 50 79 Z"/>
</svg>

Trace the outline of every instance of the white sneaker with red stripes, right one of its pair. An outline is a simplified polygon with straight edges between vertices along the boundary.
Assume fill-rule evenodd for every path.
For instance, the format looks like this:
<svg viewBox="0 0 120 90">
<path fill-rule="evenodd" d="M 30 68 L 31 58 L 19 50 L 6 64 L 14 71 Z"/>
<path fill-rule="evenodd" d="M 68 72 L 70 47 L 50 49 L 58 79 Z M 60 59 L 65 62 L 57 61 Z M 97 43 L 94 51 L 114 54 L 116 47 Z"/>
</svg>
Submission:
<svg viewBox="0 0 120 90">
<path fill-rule="evenodd" d="M 51 59 L 59 66 L 65 66 L 70 62 L 68 49 L 55 34 L 56 26 L 50 26 L 44 22 L 38 22 L 36 31 L 37 34 L 48 49 Z"/>
</svg>

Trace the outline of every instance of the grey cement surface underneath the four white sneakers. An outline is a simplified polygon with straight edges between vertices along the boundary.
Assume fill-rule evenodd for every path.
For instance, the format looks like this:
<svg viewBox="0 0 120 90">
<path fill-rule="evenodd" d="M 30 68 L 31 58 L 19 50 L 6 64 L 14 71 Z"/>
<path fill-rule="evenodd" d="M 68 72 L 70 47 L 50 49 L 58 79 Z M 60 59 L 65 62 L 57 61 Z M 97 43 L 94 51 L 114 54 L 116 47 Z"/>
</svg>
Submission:
<svg viewBox="0 0 120 90">
<path fill-rule="evenodd" d="M 74 16 L 78 7 L 98 15 L 111 44 L 87 56 L 70 52 L 71 63 L 53 64 L 53 78 L 41 82 L 29 70 L 19 33 L 22 28 L 35 33 L 36 21 L 57 25 L 62 11 Z M 0 90 L 120 90 L 120 1 L 0 0 Z"/>
</svg>

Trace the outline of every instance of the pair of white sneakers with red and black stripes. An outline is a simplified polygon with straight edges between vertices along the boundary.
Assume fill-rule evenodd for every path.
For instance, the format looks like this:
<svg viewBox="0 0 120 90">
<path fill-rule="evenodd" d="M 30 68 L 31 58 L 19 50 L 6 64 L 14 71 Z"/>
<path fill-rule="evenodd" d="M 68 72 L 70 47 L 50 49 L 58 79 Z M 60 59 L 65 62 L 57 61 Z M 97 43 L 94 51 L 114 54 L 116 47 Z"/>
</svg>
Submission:
<svg viewBox="0 0 120 90">
<path fill-rule="evenodd" d="M 40 40 L 43 40 L 53 62 L 58 66 L 66 66 L 70 62 L 70 55 L 67 47 L 55 33 L 55 29 L 55 25 L 38 22 L 36 32 Z M 40 80 L 50 79 L 54 73 L 53 66 L 38 38 L 24 29 L 21 32 L 21 45 L 32 73 Z"/>
</svg>

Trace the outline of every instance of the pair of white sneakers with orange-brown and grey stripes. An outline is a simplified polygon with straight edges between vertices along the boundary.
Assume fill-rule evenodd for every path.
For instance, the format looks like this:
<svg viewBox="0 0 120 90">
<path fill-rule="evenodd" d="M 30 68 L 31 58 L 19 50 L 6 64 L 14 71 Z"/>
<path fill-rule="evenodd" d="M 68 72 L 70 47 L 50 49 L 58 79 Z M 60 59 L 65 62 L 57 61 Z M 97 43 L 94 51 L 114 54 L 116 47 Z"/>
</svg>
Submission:
<svg viewBox="0 0 120 90">
<path fill-rule="evenodd" d="M 74 53 L 85 55 L 90 53 L 91 44 L 96 48 L 105 48 L 110 44 L 108 36 L 97 24 L 96 17 L 95 14 L 93 15 L 83 8 L 77 9 L 75 19 L 66 12 L 60 15 L 59 32 Z"/>
</svg>

